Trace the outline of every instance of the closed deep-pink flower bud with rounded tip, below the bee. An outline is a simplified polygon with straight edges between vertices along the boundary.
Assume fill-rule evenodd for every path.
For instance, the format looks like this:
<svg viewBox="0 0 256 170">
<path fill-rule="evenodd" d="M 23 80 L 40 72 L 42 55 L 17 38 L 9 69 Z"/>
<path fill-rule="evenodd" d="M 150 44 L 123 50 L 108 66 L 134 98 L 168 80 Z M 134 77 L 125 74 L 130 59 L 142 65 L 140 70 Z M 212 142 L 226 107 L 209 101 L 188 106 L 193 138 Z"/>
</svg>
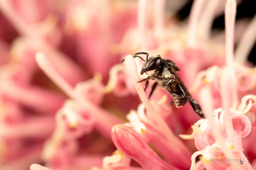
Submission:
<svg viewBox="0 0 256 170">
<path fill-rule="evenodd" d="M 116 148 L 138 162 L 144 169 L 176 169 L 164 162 L 132 128 L 117 124 L 112 128 L 111 136 Z"/>
</svg>

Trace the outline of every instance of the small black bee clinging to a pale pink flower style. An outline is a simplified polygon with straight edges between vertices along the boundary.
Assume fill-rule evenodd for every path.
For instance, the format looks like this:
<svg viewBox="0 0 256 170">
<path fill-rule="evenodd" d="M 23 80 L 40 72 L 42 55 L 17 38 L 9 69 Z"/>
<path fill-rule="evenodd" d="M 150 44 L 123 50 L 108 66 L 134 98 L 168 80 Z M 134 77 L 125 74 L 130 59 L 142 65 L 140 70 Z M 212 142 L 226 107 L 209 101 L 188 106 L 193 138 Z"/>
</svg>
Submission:
<svg viewBox="0 0 256 170">
<path fill-rule="evenodd" d="M 138 54 L 147 55 L 146 60 L 144 60 Z M 173 103 L 176 105 L 176 107 L 181 107 L 185 105 L 188 101 L 194 109 L 195 113 L 198 114 L 201 118 L 204 118 L 204 114 L 202 113 L 200 104 L 191 97 L 191 94 L 188 92 L 188 89 L 185 86 L 184 82 L 177 74 L 177 71 L 180 71 L 180 68 L 176 66 L 175 63 L 172 62 L 172 60 L 167 58 L 161 58 L 160 55 L 152 55 L 148 59 L 148 53 L 146 52 L 135 53 L 133 57 L 139 57 L 144 61 L 143 67 L 141 69 L 141 75 L 143 73 L 146 73 L 147 71 L 155 70 L 152 75 L 149 75 L 147 78 L 137 81 L 146 81 L 144 89 L 146 90 L 148 87 L 149 79 L 158 80 L 153 84 L 148 98 L 150 98 L 153 94 L 153 91 L 156 89 L 157 84 L 160 84 L 162 88 L 166 89 L 166 91 L 172 95 Z M 124 62 L 124 59 L 121 61 L 121 63 L 122 62 Z"/>
</svg>

